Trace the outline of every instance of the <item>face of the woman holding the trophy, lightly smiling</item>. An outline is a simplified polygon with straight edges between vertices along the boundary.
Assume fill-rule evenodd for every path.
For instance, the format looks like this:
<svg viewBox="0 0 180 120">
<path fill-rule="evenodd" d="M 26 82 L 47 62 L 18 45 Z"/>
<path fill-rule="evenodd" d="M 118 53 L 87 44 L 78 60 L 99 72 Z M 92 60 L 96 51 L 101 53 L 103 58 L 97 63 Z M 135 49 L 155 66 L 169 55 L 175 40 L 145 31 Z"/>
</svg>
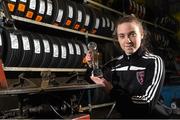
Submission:
<svg viewBox="0 0 180 120">
<path fill-rule="evenodd" d="M 117 37 L 122 50 L 131 55 L 141 45 L 143 30 L 136 22 L 125 22 L 117 26 Z"/>
</svg>

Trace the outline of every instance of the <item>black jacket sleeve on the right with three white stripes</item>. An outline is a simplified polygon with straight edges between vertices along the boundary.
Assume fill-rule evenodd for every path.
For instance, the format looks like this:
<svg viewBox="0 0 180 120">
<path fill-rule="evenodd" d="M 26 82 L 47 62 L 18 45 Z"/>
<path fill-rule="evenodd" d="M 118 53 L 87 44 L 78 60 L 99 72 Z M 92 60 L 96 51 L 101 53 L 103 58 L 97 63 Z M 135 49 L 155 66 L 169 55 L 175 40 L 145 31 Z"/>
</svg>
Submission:
<svg viewBox="0 0 180 120">
<path fill-rule="evenodd" d="M 132 102 L 136 104 L 150 104 L 153 107 L 160 95 L 160 90 L 164 83 L 165 66 L 159 56 L 152 56 L 151 62 L 146 68 L 145 82 L 142 87 L 142 94 L 132 96 Z"/>
</svg>

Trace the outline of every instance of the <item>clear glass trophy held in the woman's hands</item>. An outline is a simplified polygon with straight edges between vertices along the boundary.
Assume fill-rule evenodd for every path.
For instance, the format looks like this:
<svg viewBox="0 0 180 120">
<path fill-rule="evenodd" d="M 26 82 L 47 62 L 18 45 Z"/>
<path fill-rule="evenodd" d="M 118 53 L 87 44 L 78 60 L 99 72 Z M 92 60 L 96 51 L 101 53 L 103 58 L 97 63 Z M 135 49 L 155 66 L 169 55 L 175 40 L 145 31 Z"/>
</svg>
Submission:
<svg viewBox="0 0 180 120">
<path fill-rule="evenodd" d="M 95 42 L 90 42 L 88 43 L 88 49 L 89 52 L 92 55 L 92 60 L 89 63 L 90 66 L 92 66 L 93 70 L 91 72 L 92 76 L 97 76 L 97 77 L 102 77 L 103 76 L 103 72 L 102 70 L 99 68 L 99 52 L 97 50 L 97 44 Z"/>
</svg>

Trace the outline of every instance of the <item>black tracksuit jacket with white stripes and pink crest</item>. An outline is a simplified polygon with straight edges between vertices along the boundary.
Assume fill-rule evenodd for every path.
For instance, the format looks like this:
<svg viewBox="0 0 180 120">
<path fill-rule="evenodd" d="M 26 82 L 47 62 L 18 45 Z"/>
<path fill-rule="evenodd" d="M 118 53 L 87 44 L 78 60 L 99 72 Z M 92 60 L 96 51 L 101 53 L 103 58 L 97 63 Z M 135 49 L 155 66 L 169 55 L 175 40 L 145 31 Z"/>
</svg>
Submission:
<svg viewBox="0 0 180 120">
<path fill-rule="evenodd" d="M 122 54 L 111 60 L 103 70 L 104 78 L 113 85 L 110 95 L 122 117 L 151 116 L 165 76 L 160 56 L 140 48 L 132 55 Z"/>
</svg>

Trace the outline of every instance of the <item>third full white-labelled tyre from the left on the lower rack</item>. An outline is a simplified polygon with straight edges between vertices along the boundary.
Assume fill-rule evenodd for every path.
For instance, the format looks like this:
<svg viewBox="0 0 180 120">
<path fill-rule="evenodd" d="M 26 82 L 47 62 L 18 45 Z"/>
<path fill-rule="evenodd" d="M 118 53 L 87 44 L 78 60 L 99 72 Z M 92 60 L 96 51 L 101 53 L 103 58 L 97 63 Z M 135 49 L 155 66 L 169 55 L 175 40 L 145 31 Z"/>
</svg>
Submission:
<svg viewBox="0 0 180 120">
<path fill-rule="evenodd" d="M 31 37 L 33 41 L 33 55 L 30 63 L 30 67 L 40 67 L 44 55 L 43 42 L 40 36 L 36 33 L 32 33 Z"/>
</svg>

